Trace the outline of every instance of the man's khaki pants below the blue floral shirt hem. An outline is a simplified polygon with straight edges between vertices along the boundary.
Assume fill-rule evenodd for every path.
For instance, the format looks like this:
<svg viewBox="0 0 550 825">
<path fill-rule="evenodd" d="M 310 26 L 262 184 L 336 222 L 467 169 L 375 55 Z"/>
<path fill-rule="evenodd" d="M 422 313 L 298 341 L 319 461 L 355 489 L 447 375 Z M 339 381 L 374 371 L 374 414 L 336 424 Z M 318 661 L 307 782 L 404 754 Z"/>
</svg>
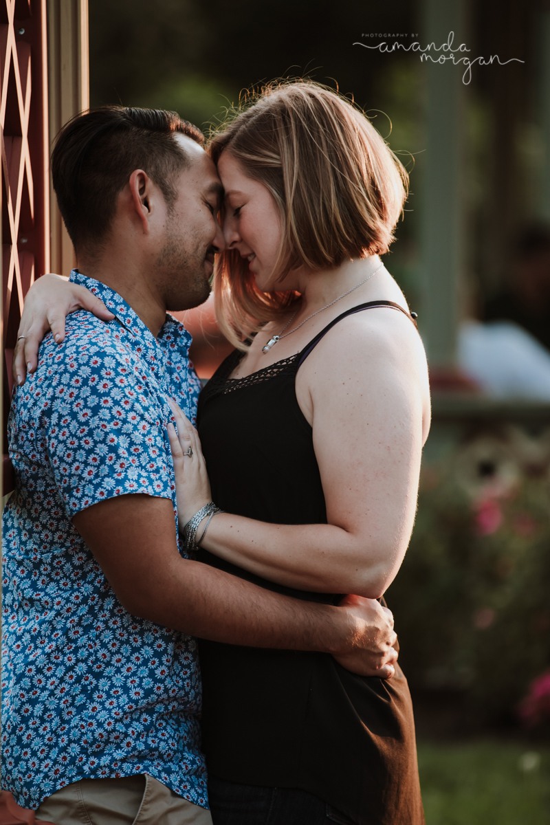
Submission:
<svg viewBox="0 0 550 825">
<path fill-rule="evenodd" d="M 55 825 L 212 825 L 209 811 L 147 774 L 73 782 L 45 799 L 36 818 Z"/>
</svg>

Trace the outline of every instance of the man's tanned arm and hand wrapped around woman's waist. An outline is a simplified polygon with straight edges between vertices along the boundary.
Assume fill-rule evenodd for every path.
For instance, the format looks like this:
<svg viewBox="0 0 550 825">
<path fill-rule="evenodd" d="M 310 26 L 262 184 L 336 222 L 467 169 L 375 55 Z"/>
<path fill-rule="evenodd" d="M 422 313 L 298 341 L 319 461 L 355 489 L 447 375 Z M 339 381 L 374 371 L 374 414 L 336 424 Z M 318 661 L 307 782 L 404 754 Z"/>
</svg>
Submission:
<svg viewBox="0 0 550 825">
<path fill-rule="evenodd" d="M 182 559 L 172 502 L 133 493 L 78 512 L 74 526 L 129 613 L 214 641 L 331 653 L 363 676 L 392 676 L 393 617 L 377 601 L 299 601 Z"/>
</svg>

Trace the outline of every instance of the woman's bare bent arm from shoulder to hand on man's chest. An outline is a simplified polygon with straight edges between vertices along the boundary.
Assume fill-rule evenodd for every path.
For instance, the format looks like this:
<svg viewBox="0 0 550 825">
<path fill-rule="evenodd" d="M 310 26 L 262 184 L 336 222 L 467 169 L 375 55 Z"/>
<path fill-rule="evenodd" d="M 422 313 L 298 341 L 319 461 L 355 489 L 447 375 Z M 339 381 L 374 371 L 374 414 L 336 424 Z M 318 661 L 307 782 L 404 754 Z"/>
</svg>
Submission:
<svg viewBox="0 0 550 825">
<path fill-rule="evenodd" d="M 329 523 L 274 525 L 219 514 L 201 547 L 289 587 L 382 595 L 410 539 L 429 412 L 424 351 L 403 324 L 346 323 L 300 370 L 299 402 L 313 424 Z M 191 444 L 200 453 L 189 422 L 178 425 L 184 450 Z M 209 487 L 200 458 L 177 449 L 172 434 L 185 524 L 209 501 Z"/>
</svg>

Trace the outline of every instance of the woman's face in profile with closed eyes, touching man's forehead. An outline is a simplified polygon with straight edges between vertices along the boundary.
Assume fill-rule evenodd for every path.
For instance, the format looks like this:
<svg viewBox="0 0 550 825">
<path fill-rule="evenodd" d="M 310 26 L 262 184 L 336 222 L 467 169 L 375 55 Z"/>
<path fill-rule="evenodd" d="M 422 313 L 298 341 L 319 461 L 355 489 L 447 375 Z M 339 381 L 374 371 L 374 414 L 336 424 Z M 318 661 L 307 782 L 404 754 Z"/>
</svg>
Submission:
<svg viewBox="0 0 550 825">
<path fill-rule="evenodd" d="M 218 173 L 225 191 L 226 248 L 236 249 L 248 259 L 258 289 L 266 290 L 280 247 L 279 209 L 269 189 L 247 177 L 241 163 L 227 150 L 219 157 Z"/>
</svg>

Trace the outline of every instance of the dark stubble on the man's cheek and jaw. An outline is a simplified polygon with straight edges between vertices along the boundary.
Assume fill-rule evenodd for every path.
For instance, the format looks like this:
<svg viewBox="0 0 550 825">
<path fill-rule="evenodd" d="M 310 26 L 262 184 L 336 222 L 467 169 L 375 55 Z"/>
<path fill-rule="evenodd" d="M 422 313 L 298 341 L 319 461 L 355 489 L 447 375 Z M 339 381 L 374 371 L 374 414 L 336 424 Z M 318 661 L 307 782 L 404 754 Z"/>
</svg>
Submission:
<svg viewBox="0 0 550 825">
<path fill-rule="evenodd" d="M 210 295 L 209 281 L 204 272 L 204 257 L 208 247 L 204 241 L 189 238 L 188 245 L 176 233 L 167 231 L 166 243 L 156 261 L 157 278 L 167 309 L 181 312 L 204 304 Z"/>
</svg>

